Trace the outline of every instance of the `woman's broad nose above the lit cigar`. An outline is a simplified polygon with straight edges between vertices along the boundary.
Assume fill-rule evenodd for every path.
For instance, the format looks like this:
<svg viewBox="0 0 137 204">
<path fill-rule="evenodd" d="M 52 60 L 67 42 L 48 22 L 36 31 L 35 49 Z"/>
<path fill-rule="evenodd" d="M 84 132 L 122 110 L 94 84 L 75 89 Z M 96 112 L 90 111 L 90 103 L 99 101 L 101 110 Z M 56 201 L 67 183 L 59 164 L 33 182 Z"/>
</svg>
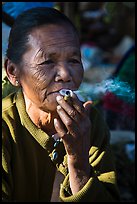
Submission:
<svg viewBox="0 0 137 204">
<path fill-rule="evenodd" d="M 69 65 L 67 65 L 67 63 L 60 63 L 57 66 L 57 74 L 55 77 L 55 81 L 69 82 L 71 81 L 71 79 L 72 76 Z"/>
</svg>

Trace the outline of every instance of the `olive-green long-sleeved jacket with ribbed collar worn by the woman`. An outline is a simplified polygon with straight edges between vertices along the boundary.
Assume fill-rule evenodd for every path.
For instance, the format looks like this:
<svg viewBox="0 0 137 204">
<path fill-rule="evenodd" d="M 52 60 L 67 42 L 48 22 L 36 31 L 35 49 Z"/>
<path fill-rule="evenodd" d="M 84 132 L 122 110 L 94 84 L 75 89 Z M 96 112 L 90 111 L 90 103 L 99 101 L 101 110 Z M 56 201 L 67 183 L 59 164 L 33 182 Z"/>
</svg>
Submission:
<svg viewBox="0 0 137 204">
<path fill-rule="evenodd" d="M 50 202 L 56 170 L 64 175 L 60 184 L 62 202 L 114 202 L 119 200 L 114 158 L 109 145 L 109 131 L 93 107 L 89 162 L 91 177 L 72 195 L 69 186 L 67 156 L 63 143 L 59 157 L 51 160 L 54 141 L 38 129 L 25 111 L 22 91 L 2 101 L 2 197 L 3 201 Z"/>
</svg>

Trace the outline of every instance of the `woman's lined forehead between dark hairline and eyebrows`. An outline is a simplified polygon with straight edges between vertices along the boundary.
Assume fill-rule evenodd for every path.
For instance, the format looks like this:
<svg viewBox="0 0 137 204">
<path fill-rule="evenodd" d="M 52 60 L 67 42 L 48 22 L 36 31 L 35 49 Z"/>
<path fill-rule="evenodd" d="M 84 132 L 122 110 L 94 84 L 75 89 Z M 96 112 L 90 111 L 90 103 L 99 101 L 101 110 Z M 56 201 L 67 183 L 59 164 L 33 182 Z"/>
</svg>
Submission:
<svg viewBox="0 0 137 204">
<path fill-rule="evenodd" d="M 64 27 L 63 27 L 64 28 Z M 62 27 L 41 27 L 29 34 L 29 45 L 37 56 L 55 55 L 60 52 L 79 53 L 79 40 L 76 34 Z"/>
</svg>

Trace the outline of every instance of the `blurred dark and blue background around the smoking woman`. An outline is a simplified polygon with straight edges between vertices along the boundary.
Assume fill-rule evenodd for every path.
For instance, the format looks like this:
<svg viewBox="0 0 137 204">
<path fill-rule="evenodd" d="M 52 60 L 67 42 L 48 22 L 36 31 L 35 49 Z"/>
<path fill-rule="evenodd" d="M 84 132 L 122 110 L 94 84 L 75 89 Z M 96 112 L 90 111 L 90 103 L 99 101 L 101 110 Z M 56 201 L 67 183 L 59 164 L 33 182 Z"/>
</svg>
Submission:
<svg viewBox="0 0 137 204">
<path fill-rule="evenodd" d="M 2 2 L 2 97 L 14 91 L 3 68 L 10 28 L 32 7 L 54 7 L 79 31 L 85 70 L 80 91 L 111 133 L 122 202 L 135 201 L 135 2 Z"/>
</svg>

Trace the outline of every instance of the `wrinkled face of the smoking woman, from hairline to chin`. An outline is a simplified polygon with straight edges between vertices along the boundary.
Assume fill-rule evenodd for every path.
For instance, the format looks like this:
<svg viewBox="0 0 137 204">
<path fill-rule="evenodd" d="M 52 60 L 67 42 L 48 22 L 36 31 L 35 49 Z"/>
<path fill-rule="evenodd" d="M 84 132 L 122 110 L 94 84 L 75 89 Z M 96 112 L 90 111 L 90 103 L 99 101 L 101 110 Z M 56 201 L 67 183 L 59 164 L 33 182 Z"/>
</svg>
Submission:
<svg viewBox="0 0 137 204">
<path fill-rule="evenodd" d="M 83 79 L 78 37 L 59 25 L 39 27 L 28 37 L 20 72 L 23 92 L 41 110 L 55 111 L 59 90 L 77 90 Z"/>
</svg>

